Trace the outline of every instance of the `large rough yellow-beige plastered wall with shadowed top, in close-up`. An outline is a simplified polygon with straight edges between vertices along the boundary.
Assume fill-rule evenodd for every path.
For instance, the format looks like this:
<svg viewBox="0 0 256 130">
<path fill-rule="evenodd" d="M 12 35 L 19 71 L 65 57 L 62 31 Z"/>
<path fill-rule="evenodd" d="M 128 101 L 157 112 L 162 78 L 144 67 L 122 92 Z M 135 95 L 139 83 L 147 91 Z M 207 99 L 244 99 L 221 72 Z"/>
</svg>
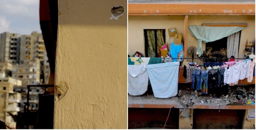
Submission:
<svg viewBox="0 0 256 130">
<path fill-rule="evenodd" d="M 117 5 L 124 15 L 109 20 Z M 58 7 L 54 129 L 127 129 L 127 1 Z"/>
</svg>

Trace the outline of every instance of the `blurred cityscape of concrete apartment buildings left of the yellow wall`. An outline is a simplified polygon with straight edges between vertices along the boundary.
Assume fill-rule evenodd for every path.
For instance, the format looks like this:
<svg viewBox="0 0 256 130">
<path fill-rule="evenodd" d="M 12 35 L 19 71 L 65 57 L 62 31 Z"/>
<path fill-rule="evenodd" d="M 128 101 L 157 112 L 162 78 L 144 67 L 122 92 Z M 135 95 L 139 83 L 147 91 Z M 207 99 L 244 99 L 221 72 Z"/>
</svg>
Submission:
<svg viewBox="0 0 256 130">
<path fill-rule="evenodd" d="M 47 85 L 49 76 L 42 33 L 1 33 L 0 126 L 4 129 L 36 129 L 39 98 L 49 95 L 48 87 L 54 86 Z"/>
</svg>

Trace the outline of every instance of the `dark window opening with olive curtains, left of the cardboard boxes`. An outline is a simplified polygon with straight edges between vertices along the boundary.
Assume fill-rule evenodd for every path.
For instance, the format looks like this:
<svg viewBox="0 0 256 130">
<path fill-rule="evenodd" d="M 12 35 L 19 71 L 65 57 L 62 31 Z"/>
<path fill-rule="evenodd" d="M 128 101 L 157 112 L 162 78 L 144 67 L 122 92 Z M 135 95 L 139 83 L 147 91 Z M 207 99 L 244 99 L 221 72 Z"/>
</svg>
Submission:
<svg viewBox="0 0 256 130">
<path fill-rule="evenodd" d="M 159 57 L 159 47 L 165 45 L 165 29 L 144 29 L 145 57 Z"/>
</svg>

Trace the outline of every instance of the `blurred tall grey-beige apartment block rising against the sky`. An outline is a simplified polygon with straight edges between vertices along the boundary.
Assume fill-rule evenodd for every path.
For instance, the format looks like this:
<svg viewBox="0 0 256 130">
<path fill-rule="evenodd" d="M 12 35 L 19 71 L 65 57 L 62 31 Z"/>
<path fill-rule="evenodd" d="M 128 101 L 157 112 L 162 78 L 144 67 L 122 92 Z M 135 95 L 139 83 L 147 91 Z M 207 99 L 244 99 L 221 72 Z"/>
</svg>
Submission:
<svg viewBox="0 0 256 130">
<path fill-rule="evenodd" d="M 14 64 L 14 73 L 20 74 L 14 75 L 17 77 L 13 78 L 21 79 L 23 86 L 48 84 L 50 67 L 42 33 L 34 31 L 31 35 L 19 36 L 15 33 L 4 32 L 1 33 L 0 39 L 0 62 L 6 61 Z M 33 71 L 31 65 L 34 63 L 30 62 L 38 64 L 38 61 L 39 69 L 34 68 Z M 36 66 L 38 67 L 38 65 Z M 28 74 L 30 72 L 31 74 Z"/>
</svg>

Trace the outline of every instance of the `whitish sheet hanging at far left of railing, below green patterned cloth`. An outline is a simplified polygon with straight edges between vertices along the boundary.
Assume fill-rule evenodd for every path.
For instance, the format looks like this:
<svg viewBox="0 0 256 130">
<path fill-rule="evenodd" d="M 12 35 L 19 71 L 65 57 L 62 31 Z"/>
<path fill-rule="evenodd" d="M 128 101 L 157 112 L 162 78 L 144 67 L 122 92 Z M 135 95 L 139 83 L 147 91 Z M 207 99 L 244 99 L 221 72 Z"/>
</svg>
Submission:
<svg viewBox="0 0 256 130">
<path fill-rule="evenodd" d="M 128 65 L 128 94 L 143 95 L 148 90 L 146 65 Z"/>
</svg>

